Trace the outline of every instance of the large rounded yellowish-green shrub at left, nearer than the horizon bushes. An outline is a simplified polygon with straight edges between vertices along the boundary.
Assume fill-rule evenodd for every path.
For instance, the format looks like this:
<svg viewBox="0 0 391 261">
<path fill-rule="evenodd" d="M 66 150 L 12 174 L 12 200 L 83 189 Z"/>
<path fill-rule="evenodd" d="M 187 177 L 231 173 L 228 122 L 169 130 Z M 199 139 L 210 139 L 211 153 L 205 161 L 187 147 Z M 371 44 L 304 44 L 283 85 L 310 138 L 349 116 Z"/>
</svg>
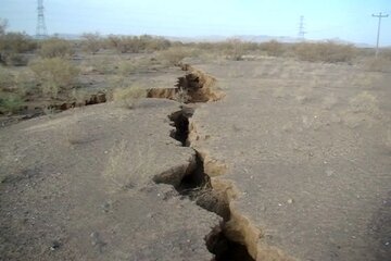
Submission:
<svg viewBox="0 0 391 261">
<path fill-rule="evenodd" d="M 37 59 L 29 63 L 43 95 L 55 98 L 59 91 L 71 89 L 79 74 L 77 66 L 62 58 Z"/>
</svg>

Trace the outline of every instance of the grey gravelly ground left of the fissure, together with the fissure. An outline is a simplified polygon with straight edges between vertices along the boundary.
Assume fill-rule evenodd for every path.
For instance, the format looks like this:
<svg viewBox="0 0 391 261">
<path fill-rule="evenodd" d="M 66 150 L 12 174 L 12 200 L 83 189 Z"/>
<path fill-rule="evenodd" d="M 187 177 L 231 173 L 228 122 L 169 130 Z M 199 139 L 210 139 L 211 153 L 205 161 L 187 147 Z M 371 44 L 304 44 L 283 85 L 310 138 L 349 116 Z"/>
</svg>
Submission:
<svg viewBox="0 0 391 261">
<path fill-rule="evenodd" d="M 191 71 L 177 88 L 188 103 L 215 101 L 214 82 Z M 0 260 L 253 260 L 230 236 L 229 188 L 213 188 L 189 142 L 195 107 L 149 98 L 1 129 Z M 167 170 L 178 184 L 159 178 Z"/>
</svg>

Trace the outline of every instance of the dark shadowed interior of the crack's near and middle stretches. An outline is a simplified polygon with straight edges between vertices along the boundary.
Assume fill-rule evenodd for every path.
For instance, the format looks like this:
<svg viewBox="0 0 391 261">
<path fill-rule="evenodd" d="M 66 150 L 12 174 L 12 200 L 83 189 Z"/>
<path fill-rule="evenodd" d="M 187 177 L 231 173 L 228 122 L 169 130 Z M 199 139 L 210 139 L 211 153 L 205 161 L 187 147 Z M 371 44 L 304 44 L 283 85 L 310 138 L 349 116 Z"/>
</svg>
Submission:
<svg viewBox="0 0 391 261">
<path fill-rule="evenodd" d="M 171 136 L 180 141 L 184 147 L 189 147 L 189 119 L 193 115 L 193 109 L 182 107 L 180 111 L 171 114 L 168 117 L 175 126 L 175 130 Z M 211 183 L 211 177 L 204 172 L 204 162 L 200 153 L 195 150 L 194 162 L 190 172 L 181 173 L 182 178 L 178 184 L 175 184 L 173 178 L 172 185 L 181 195 L 187 197 L 199 207 L 219 215 L 223 222 L 205 237 L 205 244 L 211 253 L 213 253 L 214 261 L 253 261 L 247 246 L 237 243 L 227 235 L 228 227 L 226 223 L 230 220 L 229 201 L 226 191 L 214 189 Z M 173 173 L 173 177 L 176 177 Z M 169 184 L 169 179 L 166 179 Z"/>
</svg>

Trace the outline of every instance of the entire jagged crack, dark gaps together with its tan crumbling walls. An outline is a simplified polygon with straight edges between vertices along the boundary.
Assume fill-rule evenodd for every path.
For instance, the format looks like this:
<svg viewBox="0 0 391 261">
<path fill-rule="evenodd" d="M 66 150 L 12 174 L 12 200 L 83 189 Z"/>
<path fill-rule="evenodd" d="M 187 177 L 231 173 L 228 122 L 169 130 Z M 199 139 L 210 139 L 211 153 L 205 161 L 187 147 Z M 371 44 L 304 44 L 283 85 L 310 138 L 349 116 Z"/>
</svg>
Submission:
<svg viewBox="0 0 391 261">
<path fill-rule="evenodd" d="M 224 97 L 213 89 L 215 79 L 212 76 L 189 66 L 185 70 L 190 70 L 191 73 L 179 78 L 177 91 L 181 88 L 186 90 L 189 103 L 216 101 Z M 173 99 L 173 96 L 159 98 Z M 193 107 L 182 105 L 168 116 L 175 127 L 171 137 L 180 141 L 184 147 L 191 147 L 189 137 L 194 137 L 192 132 L 195 132 L 195 126 L 194 123 L 190 124 L 194 110 Z M 189 162 L 185 173 L 171 173 L 168 176 L 164 173 L 157 175 L 154 182 L 173 185 L 181 197 L 191 199 L 199 207 L 222 217 L 222 223 L 205 235 L 206 247 L 215 256 L 214 260 L 255 260 L 260 232 L 232 208 L 231 201 L 238 195 L 232 184 L 216 177 L 223 175 L 226 167 L 220 167 L 218 163 L 211 164 L 207 153 L 192 149 L 195 157 Z M 182 177 L 179 182 L 178 176 Z"/>
</svg>

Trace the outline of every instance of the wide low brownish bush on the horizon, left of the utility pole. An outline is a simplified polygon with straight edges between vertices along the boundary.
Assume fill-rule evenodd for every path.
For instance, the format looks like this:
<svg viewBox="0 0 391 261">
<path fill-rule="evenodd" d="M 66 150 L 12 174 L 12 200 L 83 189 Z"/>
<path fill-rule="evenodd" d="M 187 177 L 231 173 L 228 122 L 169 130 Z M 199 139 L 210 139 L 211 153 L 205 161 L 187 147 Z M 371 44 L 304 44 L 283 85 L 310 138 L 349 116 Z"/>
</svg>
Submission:
<svg viewBox="0 0 391 261">
<path fill-rule="evenodd" d="M 356 49 L 352 45 L 332 41 L 301 42 L 294 46 L 294 53 L 303 61 L 337 63 L 351 62 L 356 55 Z"/>
</svg>

